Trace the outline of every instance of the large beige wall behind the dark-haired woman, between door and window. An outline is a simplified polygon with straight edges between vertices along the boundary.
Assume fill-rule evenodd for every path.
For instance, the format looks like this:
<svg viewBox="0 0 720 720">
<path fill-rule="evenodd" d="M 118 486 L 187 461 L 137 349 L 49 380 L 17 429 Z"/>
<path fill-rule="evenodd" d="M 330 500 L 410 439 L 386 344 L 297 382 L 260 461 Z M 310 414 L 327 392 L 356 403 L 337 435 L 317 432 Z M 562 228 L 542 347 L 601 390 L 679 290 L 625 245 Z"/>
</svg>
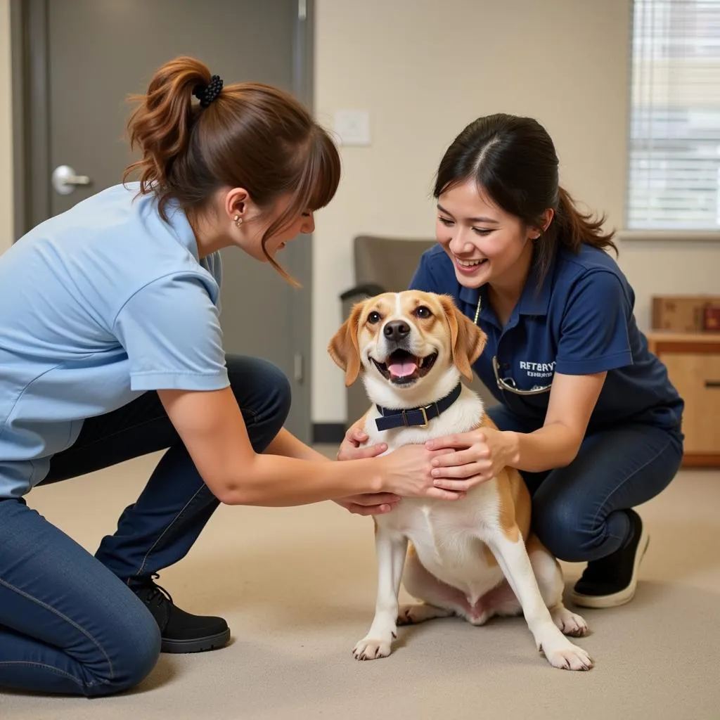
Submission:
<svg viewBox="0 0 720 720">
<path fill-rule="evenodd" d="M 341 322 L 359 233 L 431 237 L 433 174 L 470 120 L 529 114 L 549 130 L 561 181 L 621 228 L 626 188 L 630 0 L 316 0 L 320 120 L 370 112 L 372 144 L 343 148 L 343 181 L 317 217 L 312 415 L 345 419 L 341 372 L 325 353 Z M 680 270 L 680 261 L 686 263 Z M 649 297 L 720 292 L 720 242 L 626 240 L 637 315 Z"/>
</svg>

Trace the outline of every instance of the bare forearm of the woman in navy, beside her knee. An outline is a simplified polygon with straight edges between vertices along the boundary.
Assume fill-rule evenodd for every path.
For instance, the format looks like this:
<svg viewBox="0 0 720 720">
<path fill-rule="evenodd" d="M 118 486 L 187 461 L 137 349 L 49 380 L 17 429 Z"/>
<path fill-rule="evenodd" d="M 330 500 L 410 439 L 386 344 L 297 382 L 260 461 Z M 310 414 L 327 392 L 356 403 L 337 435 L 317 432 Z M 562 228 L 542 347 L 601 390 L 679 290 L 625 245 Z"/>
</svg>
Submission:
<svg viewBox="0 0 720 720">
<path fill-rule="evenodd" d="M 532 433 L 508 434 L 511 440 L 508 464 L 526 472 L 543 472 L 570 464 L 582 441 L 562 423 L 549 423 Z"/>
</svg>

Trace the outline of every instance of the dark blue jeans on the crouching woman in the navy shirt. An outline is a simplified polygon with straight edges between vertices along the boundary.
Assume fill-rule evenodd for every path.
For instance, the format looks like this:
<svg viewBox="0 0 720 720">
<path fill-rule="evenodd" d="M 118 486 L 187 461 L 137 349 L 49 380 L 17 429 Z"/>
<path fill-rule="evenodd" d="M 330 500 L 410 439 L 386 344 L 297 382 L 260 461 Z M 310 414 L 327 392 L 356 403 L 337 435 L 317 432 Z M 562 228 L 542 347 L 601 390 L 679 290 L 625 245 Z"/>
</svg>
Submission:
<svg viewBox="0 0 720 720">
<path fill-rule="evenodd" d="M 488 408 L 500 430 L 528 432 L 503 405 Z M 639 423 L 588 433 L 575 459 L 547 472 L 523 472 L 530 490 L 532 526 L 558 559 L 606 557 L 630 532 L 624 510 L 665 490 L 683 459 L 683 435 Z"/>
</svg>

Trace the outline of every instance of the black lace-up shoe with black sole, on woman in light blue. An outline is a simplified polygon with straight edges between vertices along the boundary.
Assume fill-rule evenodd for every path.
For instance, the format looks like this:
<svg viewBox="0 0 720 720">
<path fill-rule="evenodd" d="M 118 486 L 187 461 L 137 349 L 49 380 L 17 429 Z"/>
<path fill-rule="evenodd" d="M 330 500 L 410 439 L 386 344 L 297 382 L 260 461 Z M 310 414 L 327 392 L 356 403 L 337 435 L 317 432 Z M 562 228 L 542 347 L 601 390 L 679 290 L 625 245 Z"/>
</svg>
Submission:
<svg viewBox="0 0 720 720">
<path fill-rule="evenodd" d="M 228 644 L 230 628 L 222 618 L 186 613 L 175 605 L 170 593 L 150 577 L 134 585 L 132 591 L 143 600 L 160 626 L 161 652 L 202 652 Z"/>
</svg>

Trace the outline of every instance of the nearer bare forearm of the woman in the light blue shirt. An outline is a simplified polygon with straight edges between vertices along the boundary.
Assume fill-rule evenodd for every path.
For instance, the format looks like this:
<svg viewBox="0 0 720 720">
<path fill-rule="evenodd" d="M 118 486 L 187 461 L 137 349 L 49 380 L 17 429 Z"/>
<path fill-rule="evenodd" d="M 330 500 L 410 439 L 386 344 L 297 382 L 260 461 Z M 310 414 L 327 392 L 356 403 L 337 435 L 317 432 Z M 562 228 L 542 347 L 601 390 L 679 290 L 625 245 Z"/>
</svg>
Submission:
<svg viewBox="0 0 720 720">
<path fill-rule="evenodd" d="M 220 500 L 225 505 L 289 507 L 380 492 L 382 478 L 378 470 L 375 459 L 340 463 L 324 456 L 306 460 L 256 454 L 249 467 L 239 468 L 237 477 L 225 483 Z"/>
</svg>

